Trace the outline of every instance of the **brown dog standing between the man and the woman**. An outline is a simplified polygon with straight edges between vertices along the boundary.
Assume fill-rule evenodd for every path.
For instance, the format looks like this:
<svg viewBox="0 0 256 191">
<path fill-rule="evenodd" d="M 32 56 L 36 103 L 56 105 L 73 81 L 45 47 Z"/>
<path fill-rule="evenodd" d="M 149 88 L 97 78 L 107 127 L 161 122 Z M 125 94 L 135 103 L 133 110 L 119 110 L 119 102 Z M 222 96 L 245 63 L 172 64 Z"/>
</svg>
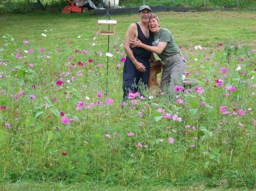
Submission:
<svg viewBox="0 0 256 191">
<path fill-rule="evenodd" d="M 160 87 L 160 82 L 161 82 L 161 78 L 158 79 L 156 77 L 156 74 L 161 73 L 162 71 L 162 62 L 156 61 L 156 62 L 150 62 L 150 77 L 148 79 L 148 90 L 152 93 L 152 94 L 157 94 L 159 91 L 159 87 Z"/>
</svg>

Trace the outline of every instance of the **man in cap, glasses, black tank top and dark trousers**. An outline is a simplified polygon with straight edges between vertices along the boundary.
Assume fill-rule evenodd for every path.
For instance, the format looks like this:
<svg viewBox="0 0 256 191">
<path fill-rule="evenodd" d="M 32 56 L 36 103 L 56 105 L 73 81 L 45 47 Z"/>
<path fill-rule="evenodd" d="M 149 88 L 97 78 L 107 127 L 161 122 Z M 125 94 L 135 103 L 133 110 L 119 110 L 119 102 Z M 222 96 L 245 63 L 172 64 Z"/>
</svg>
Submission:
<svg viewBox="0 0 256 191">
<path fill-rule="evenodd" d="M 147 86 L 150 74 L 150 58 L 154 59 L 152 53 L 143 48 L 131 48 L 129 40 L 138 38 L 144 44 L 152 45 L 153 35 L 148 30 L 147 24 L 151 16 L 151 9 L 147 5 L 139 8 L 138 23 L 132 23 L 125 36 L 123 49 L 126 53 L 126 61 L 123 66 L 123 101 L 126 101 L 129 91 L 141 92 Z"/>
</svg>

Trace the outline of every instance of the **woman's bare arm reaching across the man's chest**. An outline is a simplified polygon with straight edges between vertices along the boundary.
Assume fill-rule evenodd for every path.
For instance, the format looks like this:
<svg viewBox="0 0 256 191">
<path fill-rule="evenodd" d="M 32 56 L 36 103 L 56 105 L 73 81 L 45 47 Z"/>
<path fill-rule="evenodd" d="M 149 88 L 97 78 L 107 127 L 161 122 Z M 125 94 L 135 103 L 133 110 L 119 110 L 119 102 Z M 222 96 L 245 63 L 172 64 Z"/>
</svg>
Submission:
<svg viewBox="0 0 256 191">
<path fill-rule="evenodd" d="M 146 49 L 148 51 L 154 52 L 156 54 L 161 54 L 166 48 L 167 42 L 159 42 L 158 46 L 148 46 L 146 44 L 143 44 L 140 40 L 129 40 L 129 43 L 131 44 L 131 47 L 141 47 L 143 49 Z"/>
</svg>

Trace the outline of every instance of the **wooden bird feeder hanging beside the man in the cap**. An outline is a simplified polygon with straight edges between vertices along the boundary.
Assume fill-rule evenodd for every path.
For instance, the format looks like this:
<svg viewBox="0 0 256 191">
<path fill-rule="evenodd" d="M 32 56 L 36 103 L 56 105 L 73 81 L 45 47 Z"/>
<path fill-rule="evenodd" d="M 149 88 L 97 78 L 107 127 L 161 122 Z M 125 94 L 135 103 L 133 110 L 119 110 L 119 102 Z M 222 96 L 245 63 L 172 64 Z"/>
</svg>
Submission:
<svg viewBox="0 0 256 191">
<path fill-rule="evenodd" d="M 98 20 L 101 35 L 115 35 L 116 20 Z"/>
</svg>

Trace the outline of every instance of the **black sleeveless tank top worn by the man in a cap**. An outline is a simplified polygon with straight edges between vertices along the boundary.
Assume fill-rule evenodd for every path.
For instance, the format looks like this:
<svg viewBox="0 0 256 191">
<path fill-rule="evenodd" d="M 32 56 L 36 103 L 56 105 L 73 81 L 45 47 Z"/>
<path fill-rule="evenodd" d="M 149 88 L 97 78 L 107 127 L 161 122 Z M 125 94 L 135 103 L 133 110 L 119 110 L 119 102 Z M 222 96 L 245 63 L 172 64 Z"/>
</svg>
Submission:
<svg viewBox="0 0 256 191">
<path fill-rule="evenodd" d="M 153 33 L 149 31 L 149 36 L 146 38 L 141 30 L 141 27 L 139 27 L 139 24 L 137 24 L 137 31 L 138 31 L 138 39 L 142 41 L 143 44 L 152 46 L 152 41 L 153 41 Z M 145 50 L 141 47 L 134 47 L 131 48 L 133 51 L 133 55 L 135 57 L 143 58 L 143 59 L 150 59 L 151 57 L 151 52 L 148 50 Z"/>
</svg>

